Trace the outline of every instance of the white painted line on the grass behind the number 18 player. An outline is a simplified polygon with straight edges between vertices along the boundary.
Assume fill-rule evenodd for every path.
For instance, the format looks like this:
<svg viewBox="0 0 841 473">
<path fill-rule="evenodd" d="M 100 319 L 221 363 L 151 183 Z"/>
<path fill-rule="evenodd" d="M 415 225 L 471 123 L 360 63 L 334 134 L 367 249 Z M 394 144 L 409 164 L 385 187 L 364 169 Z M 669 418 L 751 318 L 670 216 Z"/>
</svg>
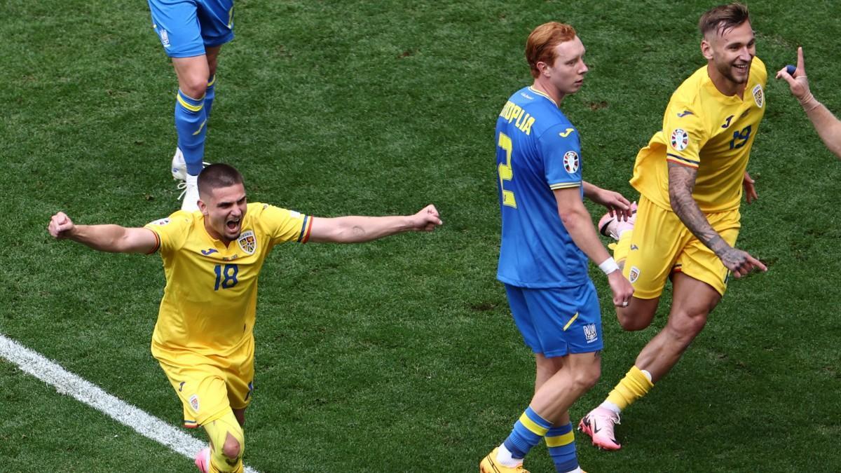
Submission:
<svg viewBox="0 0 841 473">
<path fill-rule="evenodd" d="M 119 423 L 135 429 L 144 437 L 164 444 L 179 454 L 192 459 L 206 444 L 187 433 L 172 427 L 119 398 L 108 394 L 97 385 L 72 374 L 40 353 L 34 352 L 0 333 L 0 356 L 16 364 L 19 369 L 56 387 L 56 391 L 72 396 L 94 409 L 108 414 Z M 246 466 L 246 473 L 257 473 Z"/>
</svg>

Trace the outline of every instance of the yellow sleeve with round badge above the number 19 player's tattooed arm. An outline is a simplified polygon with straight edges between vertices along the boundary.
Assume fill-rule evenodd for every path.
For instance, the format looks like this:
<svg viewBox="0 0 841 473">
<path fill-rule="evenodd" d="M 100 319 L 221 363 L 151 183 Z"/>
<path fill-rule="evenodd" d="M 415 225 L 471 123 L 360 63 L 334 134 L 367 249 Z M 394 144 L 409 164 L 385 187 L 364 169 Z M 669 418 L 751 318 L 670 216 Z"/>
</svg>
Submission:
<svg viewBox="0 0 841 473">
<path fill-rule="evenodd" d="M 663 118 L 666 161 L 696 168 L 701 165 L 701 148 L 709 134 L 699 113 L 685 104 L 669 104 Z"/>
</svg>

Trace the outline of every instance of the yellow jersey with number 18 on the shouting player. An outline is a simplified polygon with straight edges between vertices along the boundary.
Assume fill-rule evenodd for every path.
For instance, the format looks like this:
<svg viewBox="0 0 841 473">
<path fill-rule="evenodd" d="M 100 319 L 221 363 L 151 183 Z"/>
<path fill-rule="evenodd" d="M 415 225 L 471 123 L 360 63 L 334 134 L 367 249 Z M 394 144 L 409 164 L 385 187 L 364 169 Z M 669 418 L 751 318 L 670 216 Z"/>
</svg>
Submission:
<svg viewBox="0 0 841 473">
<path fill-rule="evenodd" d="M 311 224 L 309 215 L 249 204 L 240 237 L 227 246 L 209 236 L 198 211 L 145 226 L 158 237 L 167 276 L 152 335 L 155 358 L 177 364 L 187 353 L 221 363 L 250 357 L 262 263 L 279 242 L 306 242 Z"/>
</svg>

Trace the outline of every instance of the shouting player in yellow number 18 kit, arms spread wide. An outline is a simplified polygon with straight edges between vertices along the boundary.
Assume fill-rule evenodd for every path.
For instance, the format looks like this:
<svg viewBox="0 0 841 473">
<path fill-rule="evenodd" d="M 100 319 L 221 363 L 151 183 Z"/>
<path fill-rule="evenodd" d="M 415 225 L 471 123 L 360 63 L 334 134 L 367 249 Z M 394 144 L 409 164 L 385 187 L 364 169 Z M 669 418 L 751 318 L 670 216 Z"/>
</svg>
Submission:
<svg viewBox="0 0 841 473">
<path fill-rule="evenodd" d="M 75 225 L 53 215 L 50 235 L 103 252 L 160 252 L 164 290 L 152 354 L 182 401 L 184 425 L 204 427 L 204 473 L 241 472 L 242 424 L 254 379 L 257 276 L 281 242 L 368 242 L 442 224 L 434 205 L 415 215 L 315 218 L 247 204 L 242 176 L 226 164 L 198 175 L 198 211 L 179 210 L 143 228 Z"/>
</svg>

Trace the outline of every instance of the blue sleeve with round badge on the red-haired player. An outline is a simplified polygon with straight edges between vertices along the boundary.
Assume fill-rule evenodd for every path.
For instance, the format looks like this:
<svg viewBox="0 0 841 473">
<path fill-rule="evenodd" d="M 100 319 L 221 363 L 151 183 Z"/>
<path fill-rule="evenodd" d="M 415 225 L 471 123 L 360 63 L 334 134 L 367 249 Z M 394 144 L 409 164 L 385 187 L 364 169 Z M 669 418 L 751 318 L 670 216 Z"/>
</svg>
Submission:
<svg viewBox="0 0 841 473">
<path fill-rule="evenodd" d="M 538 146 L 550 189 L 580 187 L 581 141 L 578 130 L 569 125 L 553 126 L 543 133 Z"/>
</svg>

